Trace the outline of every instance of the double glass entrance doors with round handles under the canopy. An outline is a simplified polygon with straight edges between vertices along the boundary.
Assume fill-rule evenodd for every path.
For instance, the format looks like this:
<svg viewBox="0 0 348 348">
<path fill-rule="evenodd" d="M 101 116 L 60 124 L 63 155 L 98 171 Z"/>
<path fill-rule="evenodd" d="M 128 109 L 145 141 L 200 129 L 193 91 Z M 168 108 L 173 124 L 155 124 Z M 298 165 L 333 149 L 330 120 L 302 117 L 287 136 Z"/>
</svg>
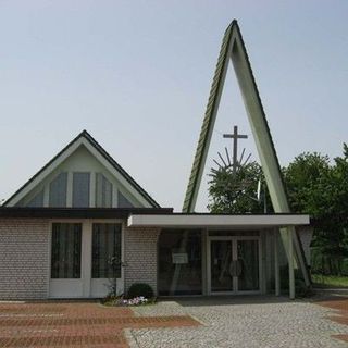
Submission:
<svg viewBox="0 0 348 348">
<path fill-rule="evenodd" d="M 260 290 L 259 238 L 212 237 L 209 243 L 210 294 Z"/>
</svg>

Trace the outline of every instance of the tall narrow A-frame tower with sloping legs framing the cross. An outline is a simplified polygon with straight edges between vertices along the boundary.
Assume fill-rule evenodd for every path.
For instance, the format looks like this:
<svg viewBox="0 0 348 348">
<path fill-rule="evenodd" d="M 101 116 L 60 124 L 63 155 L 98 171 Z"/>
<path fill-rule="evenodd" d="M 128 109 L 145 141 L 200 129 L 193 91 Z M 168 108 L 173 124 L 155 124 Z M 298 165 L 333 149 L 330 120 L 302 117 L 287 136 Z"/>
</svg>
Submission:
<svg viewBox="0 0 348 348">
<path fill-rule="evenodd" d="M 264 173 L 273 209 L 278 213 L 289 213 L 290 208 L 287 200 L 279 162 L 276 156 L 274 142 L 272 140 L 270 127 L 262 107 L 256 79 L 251 70 L 246 46 L 236 20 L 234 20 L 227 27 L 222 41 L 203 124 L 200 130 L 194 164 L 186 189 L 183 212 L 189 213 L 195 211 L 229 60 L 233 63 L 239 89 L 244 99 L 244 104 L 260 157 L 262 171 Z M 290 227 L 288 227 L 288 229 Z M 289 245 L 287 234 L 285 231 L 282 231 L 281 235 L 285 249 L 287 250 Z M 295 233 L 293 235 L 298 261 L 302 269 L 304 281 L 307 284 L 309 284 L 310 277 L 304 262 L 303 251 L 301 249 L 298 236 Z"/>
</svg>

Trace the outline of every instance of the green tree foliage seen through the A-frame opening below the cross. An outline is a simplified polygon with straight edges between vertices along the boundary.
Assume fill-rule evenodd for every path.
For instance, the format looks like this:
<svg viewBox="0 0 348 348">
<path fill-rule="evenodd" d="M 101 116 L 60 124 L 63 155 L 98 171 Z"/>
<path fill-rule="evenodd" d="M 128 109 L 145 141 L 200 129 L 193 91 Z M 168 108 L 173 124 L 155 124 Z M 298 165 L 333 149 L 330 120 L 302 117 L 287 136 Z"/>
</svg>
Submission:
<svg viewBox="0 0 348 348">
<path fill-rule="evenodd" d="M 263 201 L 258 201 L 257 189 L 259 179 L 263 181 L 261 165 L 250 162 L 239 166 L 236 172 L 232 167 L 213 171 L 209 182 L 210 203 L 212 213 L 262 213 Z M 266 199 L 269 204 L 270 199 Z M 272 210 L 271 206 L 268 211 Z"/>
</svg>

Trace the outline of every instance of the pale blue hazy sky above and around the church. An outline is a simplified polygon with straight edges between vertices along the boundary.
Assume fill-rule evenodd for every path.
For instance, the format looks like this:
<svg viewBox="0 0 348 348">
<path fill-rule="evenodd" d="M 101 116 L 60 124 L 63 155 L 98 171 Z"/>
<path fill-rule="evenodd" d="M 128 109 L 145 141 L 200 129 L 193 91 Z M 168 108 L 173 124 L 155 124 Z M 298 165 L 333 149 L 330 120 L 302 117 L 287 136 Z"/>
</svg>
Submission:
<svg viewBox="0 0 348 348">
<path fill-rule="evenodd" d="M 83 129 L 182 209 L 225 28 L 236 18 L 281 165 L 348 142 L 348 1 L 0 0 L 0 201 Z M 229 66 L 197 203 L 234 125 L 258 160 Z"/>
</svg>

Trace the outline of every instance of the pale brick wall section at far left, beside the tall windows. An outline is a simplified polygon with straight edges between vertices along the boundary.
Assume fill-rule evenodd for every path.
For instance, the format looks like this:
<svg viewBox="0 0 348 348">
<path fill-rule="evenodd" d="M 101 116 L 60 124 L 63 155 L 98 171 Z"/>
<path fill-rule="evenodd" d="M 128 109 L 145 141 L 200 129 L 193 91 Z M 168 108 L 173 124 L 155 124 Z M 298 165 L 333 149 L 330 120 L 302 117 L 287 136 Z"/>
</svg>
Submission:
<svg viewBox="0 0 348 348">
<path fill-rule="evenodd" d="M 47 298 L 49 224 L 0 220 L 0 299 Z"/>
</svg>

